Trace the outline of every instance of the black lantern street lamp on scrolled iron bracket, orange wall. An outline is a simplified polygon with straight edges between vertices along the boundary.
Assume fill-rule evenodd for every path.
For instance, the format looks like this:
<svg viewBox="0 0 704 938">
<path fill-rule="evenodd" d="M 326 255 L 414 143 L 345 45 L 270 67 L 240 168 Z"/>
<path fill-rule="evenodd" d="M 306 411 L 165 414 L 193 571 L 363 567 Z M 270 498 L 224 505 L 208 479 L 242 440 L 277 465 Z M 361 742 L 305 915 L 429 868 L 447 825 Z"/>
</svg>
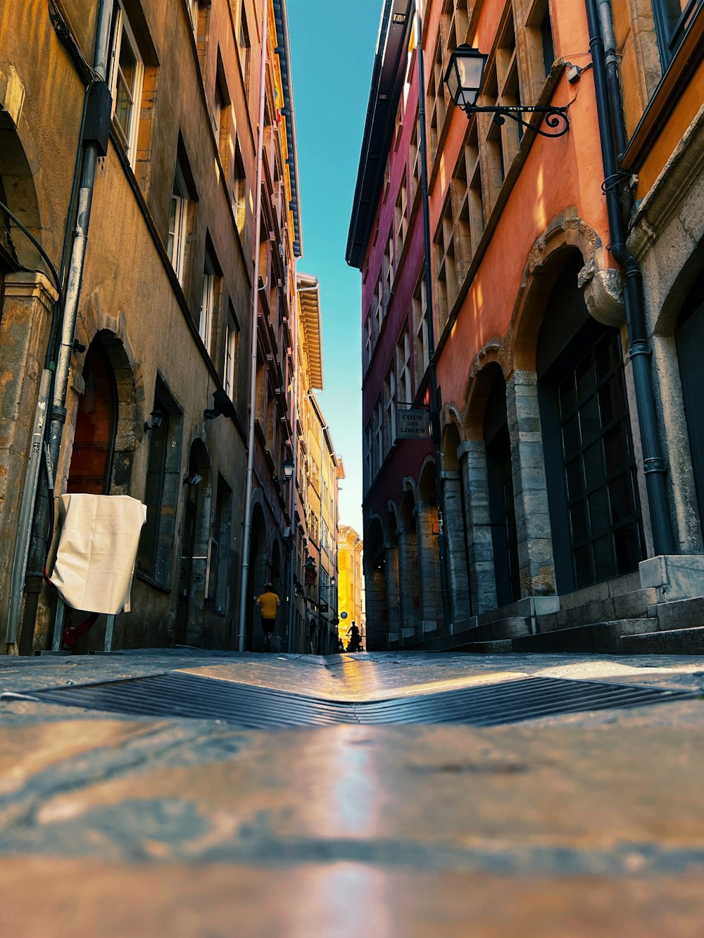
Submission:
<svg viewBox="0 0 704 938">
<path fill-rule="evenodd" d="M 450 95 L 458 108 L 461 108 L 467 117 L 473 113 L 494 114 L 494 123 L 503 124 L 507 117 L 511 117 L 517 124 L 529 130 L 534 130 L 542 137 L 561 137 L 570 129 L 570 120 L 566 107 L 556 107 L 552 104 L 498 104 L 493 107 L 484 107 L 477 104 L 477 98 L 482 90 L 486 56 L 479 49 L 474 49 L 463 42 L 457 46 L 450 56 L 450 64 L 445 72 L 445 83 Z M 545 126 L 549 130 L 539 129 L 524 120 L 522 114 L 544 114 Z"/>
</svg>

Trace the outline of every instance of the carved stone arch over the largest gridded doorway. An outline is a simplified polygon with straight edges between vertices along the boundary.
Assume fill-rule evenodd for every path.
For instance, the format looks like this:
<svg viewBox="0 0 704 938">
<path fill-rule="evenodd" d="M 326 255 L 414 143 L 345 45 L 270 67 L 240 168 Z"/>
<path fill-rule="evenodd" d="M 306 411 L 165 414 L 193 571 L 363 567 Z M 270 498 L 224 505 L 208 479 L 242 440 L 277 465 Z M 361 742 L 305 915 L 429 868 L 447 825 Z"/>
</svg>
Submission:
<svg viewBox="0 0 704 938">
<path fill-rule="evenodd" d="M 504 373 L 535 371 L 538 333 L 547 300 L 571 257 L 584 262 L 579 275 L 589 313 L 605 325 L 623 325 L 620 273 L 607 265 L 599 235 L 568 209 L 551 220 L 533 244 L 502 343 Z"/>
</svg>

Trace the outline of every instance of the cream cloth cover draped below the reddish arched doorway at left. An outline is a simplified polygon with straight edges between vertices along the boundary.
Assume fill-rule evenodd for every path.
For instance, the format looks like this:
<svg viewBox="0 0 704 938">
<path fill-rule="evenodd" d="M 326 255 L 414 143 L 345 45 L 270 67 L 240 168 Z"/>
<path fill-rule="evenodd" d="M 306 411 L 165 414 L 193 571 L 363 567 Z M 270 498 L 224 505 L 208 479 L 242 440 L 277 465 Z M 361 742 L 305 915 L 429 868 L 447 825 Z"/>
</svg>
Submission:
<svg viewBox="0 0 704 938">
<path fill-rule="evenodd" d="M 89 613 L 130 610 L 146 506 L 129 495 L 62 495 L 63 525 L 52 582 L 64 602 Z"/>
</svg>

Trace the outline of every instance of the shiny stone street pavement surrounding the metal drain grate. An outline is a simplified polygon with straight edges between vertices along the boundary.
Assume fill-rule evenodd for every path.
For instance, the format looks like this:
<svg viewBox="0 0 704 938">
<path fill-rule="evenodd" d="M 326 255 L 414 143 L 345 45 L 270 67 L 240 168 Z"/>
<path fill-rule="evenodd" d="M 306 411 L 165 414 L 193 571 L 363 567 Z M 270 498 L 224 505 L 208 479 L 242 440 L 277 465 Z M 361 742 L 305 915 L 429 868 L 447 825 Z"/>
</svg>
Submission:
<svg viewBox="0 0 704 938">
<path fill-rule="evenodd" d="M 187 669 L 377 700 L 696 658 L 0 658 L 0 690 Z M 0 703 L 0 935 L 704 935 L 704 700 L 510 726 L 254 732 Z"/>
</svg>

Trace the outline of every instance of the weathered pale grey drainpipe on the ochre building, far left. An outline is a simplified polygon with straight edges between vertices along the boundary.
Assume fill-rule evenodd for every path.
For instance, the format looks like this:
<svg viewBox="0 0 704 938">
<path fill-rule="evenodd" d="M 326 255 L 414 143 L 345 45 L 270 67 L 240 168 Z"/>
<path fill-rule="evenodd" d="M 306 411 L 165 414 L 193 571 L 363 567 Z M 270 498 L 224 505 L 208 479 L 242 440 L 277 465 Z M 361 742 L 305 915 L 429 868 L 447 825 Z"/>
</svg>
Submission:
<svg viewBox="0 0 704 938">
<path fill-rule="evenodd" d="M 93 68 L 101 81 L 106 80 L 108 72 L 111 16 L 112 4 L 109 4 L 107 0 L 100 0 Z M 88 226 L 90 224 L 90 211 L 93 203 L 93 189 L 95 188 L 98 159 L 98 144 L 92 141 L 86 142 L 84 163 L 81 169 L 81 183 L 78 189 L 76 225 L 73 229 L 73 244 L 71 246 L 69 259 L 64 319 L 61 328 L 56 374 L 54 377 L 54 400 L 49 429 L 49 449 L 54 473 L 58 467 L 61 440 L 63 437 L 64 424 L 66 423 L 66 394 L 69 386 L 73 337 L 76 331 L 78 302 L 81 296 L 81 283 L 84 275 L 85 248 L 88 241 Z"/>
</svg>

